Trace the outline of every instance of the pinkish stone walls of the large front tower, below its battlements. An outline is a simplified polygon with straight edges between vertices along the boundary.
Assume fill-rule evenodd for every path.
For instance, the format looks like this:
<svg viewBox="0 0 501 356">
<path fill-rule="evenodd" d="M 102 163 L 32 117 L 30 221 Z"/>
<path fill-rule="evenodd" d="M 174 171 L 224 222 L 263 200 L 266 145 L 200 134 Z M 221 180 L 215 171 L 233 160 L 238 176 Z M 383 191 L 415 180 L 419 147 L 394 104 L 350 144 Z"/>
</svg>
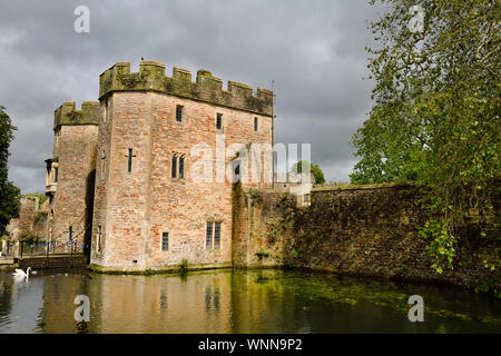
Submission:
<svg viewBox="0 0 501 356">
<path fill-rule="evenodd" d="M 273 119 L 265 111 L 237 109 L 235 102 L 213 105 L 168 93 L 111 90 L 101 97 L 106 115 L 98 152 L 106 159 L 97 165 L 91 263 L 107 270 L 166 270 L 183 259 L 190 267 L 232 265 L 232 184 L 225 167 L 235 158 L 235 145 L 271 146 Z M 177 106 L 184 108 L 181 122 Z M 217 113 L 222 128 L 216 128 Z M 203 150 L 191 154 L 196 147 Z M 171 178 L 175 155 L 185 158 L 183 178 Z M 195 176 L 202 158 L 210 165 L 208 180 Z M 264 162 L 259 167 L 264 177 Z M 265 187 L 263 177 L 246 186 Z M 222 224 L 220 248 L 206 248 L 207 221 Z M 161 249 L 163 233 L 169 234 L 168 250 Z"/>
</svg>

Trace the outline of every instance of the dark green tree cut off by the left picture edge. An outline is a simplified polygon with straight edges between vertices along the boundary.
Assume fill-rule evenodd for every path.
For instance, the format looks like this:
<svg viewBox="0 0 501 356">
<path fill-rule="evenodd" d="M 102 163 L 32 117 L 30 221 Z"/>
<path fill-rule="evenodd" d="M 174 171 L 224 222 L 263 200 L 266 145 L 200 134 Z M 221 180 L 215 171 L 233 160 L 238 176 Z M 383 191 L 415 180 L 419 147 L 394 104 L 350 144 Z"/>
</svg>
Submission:
<svg viewBox="0 0 501 356">
<path fill-rule="evenodd" d="M 10 219 L 19 216 L 20 191 L 8 180 L 7 161 L 9 159 L 9 146 L 13 139 L 16 127 L 10 117 L 0 106 L 0 236 L 7 234 L 6 226 Z"/>
</svg>

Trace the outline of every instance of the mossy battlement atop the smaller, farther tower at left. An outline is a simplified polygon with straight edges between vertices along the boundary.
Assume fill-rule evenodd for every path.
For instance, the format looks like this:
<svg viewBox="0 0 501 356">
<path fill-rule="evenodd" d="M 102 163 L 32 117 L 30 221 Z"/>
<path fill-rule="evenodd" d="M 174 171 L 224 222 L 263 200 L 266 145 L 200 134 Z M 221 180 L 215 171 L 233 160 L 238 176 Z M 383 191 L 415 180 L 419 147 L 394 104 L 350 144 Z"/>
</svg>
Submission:
<svg viewBox="0 0 501 356">
<path fill-rule="evenodd" d="M 99 101 L 84 101 L 76 110 L 75 101 L 63 102 L 53 112 L 53 129 L 61 125 L 99 125 Z"/>
</svg>

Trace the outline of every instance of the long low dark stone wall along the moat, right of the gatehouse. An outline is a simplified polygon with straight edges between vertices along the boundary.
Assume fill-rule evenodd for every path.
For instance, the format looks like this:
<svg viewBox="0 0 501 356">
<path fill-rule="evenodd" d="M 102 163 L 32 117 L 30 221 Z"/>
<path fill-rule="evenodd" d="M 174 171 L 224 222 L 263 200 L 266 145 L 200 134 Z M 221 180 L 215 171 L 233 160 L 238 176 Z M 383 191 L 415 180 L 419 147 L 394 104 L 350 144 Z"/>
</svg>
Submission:
<svg viewBox="0 0 501 356">
<path fill-rule="evenodd" d="M 462 233 L 453 270 L 438 274 L 431 267 L 430 240 L 418 235 L 428 219 L 418 187 L 312 191 L 306 208 L 296 208 L 284 194 L 265 194 L 261 205 L 243 195 L 235 200 L 240 202 L 234 235 L 237 266 L 288 266 L 500 290 L 499 273 L 485 266 L 499 268 L 501 243 L 481 238 L 474 229 Z"/>
</svg>

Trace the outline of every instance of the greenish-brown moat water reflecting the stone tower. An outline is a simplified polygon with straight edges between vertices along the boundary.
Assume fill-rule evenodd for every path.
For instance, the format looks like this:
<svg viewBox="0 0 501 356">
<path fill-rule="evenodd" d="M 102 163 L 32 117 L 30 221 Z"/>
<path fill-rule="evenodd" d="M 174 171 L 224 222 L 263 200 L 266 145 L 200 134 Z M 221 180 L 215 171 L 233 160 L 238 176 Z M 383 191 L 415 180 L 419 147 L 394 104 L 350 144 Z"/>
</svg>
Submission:
<svg viewBox="0 0 501 356">
<path fill-rule="evenodd" d="M 76 296 L 89 298 L 77 323 Z M 424 322 L 411 323 L 411 295 Z M 501 333 L 500 299 L 455 287 L 283 270 L 110 276 L 0 270 L 0 333 Z"/>
</svg>

